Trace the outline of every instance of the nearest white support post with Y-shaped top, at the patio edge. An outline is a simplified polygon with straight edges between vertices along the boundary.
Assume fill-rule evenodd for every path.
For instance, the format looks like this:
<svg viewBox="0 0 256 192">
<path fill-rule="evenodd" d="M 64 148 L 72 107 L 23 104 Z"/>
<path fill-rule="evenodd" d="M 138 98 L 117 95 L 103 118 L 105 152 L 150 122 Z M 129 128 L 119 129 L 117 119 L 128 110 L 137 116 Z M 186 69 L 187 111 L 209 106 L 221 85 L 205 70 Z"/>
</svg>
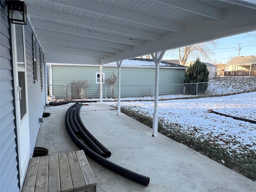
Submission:
<svg viewBox="0 0 256 192">
<path fill-rule="evenodd" d="M 154 114 L 153 114 L 153 130 L 152 136 L 157 136 L 158 131 L 158 82 L 159 82 L 159 64 L 164 56 L 166 51 L 156 52 L 155 54 L 151 54 L 155 65 L 156 65 L 156 76 L 155 76 L 155 96 L 154 96 Z"/>
</svg>

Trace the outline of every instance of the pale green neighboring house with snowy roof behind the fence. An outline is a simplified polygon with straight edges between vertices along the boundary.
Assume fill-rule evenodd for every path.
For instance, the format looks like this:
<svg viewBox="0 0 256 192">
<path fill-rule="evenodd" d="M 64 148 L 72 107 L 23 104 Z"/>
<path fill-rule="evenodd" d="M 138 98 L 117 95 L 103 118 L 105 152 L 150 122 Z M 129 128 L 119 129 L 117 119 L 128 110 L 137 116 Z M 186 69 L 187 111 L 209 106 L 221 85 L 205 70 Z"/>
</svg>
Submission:
<svg viewBox="0 0 256 192">
<path fill-rule="evenodd" d="M 84 98 L 99 98 L 100 66 L 81 64 L 48 64 L 50 94 L 56 98 L 69 98 L 72 95 L 73 81 L 86 80 L 89 88 L 84 90 Z M 121 97 L 153 96 L 155 86 L 155 64 L 152 59 L 133 58 L 123 60 L 121 66 Z M 159 94 L 183 93 L 173 84 L 184 82 L 186 66 L 170 62 L 160 62 Z M 118 80 L 113 87 L 108 82 L 118 76 L 116 63 L 104 65 L 102 69 L 103 97 L 118 96 Z M 65 95 L 66 94 L 66 95 Z"/>
</svg>

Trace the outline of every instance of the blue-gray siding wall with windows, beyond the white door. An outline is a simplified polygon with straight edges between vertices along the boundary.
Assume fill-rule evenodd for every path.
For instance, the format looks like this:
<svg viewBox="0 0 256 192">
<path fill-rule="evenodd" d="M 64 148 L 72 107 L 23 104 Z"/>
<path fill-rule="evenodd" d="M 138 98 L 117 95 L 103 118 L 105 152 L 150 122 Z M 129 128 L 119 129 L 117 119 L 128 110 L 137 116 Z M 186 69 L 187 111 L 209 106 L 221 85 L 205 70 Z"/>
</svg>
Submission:
<svg viewBox="0 0 256 192">
<path fill-rule="evenodd" d="M 28 115 L 30 127 L 30 154 L 33 154 L 36 144 L 36 137 L 40 127 L 38 118 L 42 117 L 45 105 L 44 89 L 41 89 L 41 70 L 40 70 L 40 52 L 37 42 L 37 73 L 38 81 L 34 82 L 34 65 L 33 65 L 33 35 L 30 24 L 25 26 L 26 38 L 26 67 L 27 67 L 27 82 L 28 82 Z M 44 71 L 44 65 L 43 65 Z"/>
</svg>

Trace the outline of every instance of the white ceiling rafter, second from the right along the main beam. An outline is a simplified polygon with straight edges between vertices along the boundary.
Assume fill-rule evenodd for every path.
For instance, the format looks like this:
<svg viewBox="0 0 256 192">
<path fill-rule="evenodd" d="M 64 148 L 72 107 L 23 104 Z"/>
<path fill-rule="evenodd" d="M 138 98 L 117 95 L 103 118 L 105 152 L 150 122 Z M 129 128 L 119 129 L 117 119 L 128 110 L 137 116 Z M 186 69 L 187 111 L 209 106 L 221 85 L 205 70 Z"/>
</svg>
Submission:
<svg viewBox="0 0 256 192">
<path fill-rule="evenodd" d="M 224 19 L 224 11 L 213 6 L 206 5 L 197 1 L 180 1 L 180 0 L 158 0 L 162 4 L 172 6 L 178 9 L 182 9 L 194 14 L 198 14 L 207 18 L 211 18 L 214 20 L 223 20 Z"/>
</svg>

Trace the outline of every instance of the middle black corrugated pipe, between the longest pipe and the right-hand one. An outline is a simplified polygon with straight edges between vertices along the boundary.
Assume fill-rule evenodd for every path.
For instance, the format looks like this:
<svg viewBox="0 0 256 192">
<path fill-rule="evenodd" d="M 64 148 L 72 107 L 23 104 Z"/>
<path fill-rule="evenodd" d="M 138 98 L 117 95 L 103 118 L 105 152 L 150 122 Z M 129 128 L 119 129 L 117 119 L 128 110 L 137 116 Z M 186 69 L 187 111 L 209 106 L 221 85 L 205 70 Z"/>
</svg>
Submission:
<svg viewBox="0 0 256 192">
<path fill-rule="evenodd" d="M 81 104 L 82 105 L 82 104 Z M 72 113 L 72 117 L 73 117 L 73 122 L 74 122 L 74 125 L 75 127 L 77 128 L 80 136 L 82 137 L 82 139 L 86 142 L 86 144 L 88 144 L 88 146 L 94 151 L 96 152 L 97 154 L 99 154 L 100 156 L 106 158 L 106 155 L 105 153 L 85 134 L 85 132 L 82 130 L 82 128 L 80 127 L 78 121 L 77 121 L 77 118 L 76 118 L 76 112 L 77 112 L 77 109 L 78 109 L 78 106 L 80 106 L 80 104 L 77 104 L 75 109 L 74 109 L 74 112 L 71 112 Z M 72 111 L 72 110 L 71 110 Z M 71 115 L 70 115 L 71 116 Z"/>
</svg>

